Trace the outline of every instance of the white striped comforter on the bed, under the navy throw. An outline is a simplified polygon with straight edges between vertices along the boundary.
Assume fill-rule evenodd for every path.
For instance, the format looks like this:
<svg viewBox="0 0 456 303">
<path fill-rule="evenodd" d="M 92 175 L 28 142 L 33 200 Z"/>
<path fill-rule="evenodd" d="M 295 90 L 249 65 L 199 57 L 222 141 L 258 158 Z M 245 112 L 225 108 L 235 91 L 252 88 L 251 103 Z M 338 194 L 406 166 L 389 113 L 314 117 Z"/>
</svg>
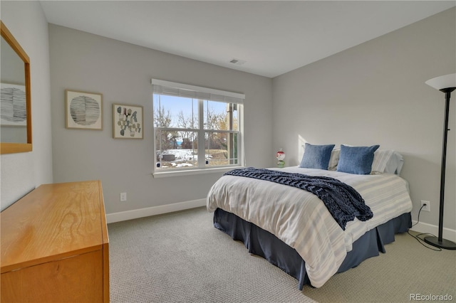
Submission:
<svg viewBox="0 0 456 303">
<path fill-rule="evenodd" d="M 222 176 L 207 195 L 207 210 L 224 211 L 276 235 L 306 262 L 314 287 L 321 287 L 341 266 L 352 243 L 368 230 L 412 210 L 408 183 L 393 174 L 356 175 L 298 166 L 278 169 L 311 176 L 330 176 L 363 196 L 373 218 L 336 223 L 323 202 L 300 188 L 239 176 Z"/>
</svg>

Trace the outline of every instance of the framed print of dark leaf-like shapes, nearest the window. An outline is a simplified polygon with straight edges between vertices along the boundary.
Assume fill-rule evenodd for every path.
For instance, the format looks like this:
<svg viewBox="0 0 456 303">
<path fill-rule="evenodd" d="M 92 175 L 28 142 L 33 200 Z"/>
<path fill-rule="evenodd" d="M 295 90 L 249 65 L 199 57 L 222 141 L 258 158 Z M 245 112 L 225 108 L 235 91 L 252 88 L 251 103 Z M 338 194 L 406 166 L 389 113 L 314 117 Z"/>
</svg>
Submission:
<svg viewBox="0 0 456 303">
<path fill-rule="evenodd" d="M 113 138 L 142 139 L 142 106 L 113 104 Z"/>
</svg>

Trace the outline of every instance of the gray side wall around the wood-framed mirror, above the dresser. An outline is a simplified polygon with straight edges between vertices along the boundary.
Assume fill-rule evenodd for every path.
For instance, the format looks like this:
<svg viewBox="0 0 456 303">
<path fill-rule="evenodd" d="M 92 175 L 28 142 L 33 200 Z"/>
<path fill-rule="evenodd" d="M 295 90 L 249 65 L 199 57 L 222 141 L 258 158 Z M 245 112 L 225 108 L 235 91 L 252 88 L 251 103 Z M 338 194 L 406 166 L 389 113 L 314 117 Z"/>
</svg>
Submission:
<svg viewBox="0 0 456 303">
<path fill-rule="evenodd" d="M 30 58 L 33 151 L 1 155 L 1 210 L 52 183 L 48 22 L 38 1 L 1 1 L 1 21 Z"/>
</svg>

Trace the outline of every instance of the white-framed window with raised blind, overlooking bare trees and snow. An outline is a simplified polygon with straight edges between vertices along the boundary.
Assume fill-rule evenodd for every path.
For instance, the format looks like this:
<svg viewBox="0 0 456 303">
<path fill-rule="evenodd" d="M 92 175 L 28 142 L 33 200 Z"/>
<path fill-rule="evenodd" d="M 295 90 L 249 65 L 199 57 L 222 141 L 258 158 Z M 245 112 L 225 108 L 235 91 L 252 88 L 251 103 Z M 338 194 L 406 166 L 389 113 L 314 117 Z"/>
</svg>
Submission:
<svg viewBox="0 0 456 303">
<path fill-rule="evenodd" d="M 152 79 L 155 173 L 242 166 L 244 95 Z"/>
</svg>

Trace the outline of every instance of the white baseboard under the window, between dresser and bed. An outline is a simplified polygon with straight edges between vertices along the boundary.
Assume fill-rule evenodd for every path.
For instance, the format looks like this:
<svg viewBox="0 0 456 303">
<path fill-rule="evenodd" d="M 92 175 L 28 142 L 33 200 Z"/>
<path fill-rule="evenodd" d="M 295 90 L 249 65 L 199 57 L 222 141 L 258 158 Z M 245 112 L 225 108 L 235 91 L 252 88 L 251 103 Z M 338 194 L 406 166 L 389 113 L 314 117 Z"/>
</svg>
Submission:
<svg viewBox="0 0 456 303">
<path fill-rule="evenodd" d="M 134 209 L 133 211 L 120 211 L 118 213 L 107 213 L 106 222 L 114 223 L 136 218 L 160 215 L 162 213 L 172 213 L 173 211 L 184 211 L 190 208 L 196 208 L 206 205 L 206 199 L 185 201 L 160 206 Z"/>
</svg>

